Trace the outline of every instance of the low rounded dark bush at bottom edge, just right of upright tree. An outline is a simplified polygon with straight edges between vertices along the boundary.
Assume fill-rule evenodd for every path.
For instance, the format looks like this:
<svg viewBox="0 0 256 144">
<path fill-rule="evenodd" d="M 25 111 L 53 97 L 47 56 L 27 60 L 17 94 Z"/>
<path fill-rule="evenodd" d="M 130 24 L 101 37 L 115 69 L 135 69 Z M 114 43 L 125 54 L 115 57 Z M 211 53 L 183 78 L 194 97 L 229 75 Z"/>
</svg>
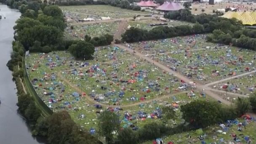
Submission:
<svg viewBox="0 0 256 144">
<path fill-rule="evenodd" d="M 137 133 L 132 131 L 131 128 L 125 128 L 119 131 L 115 144 L 137 144 L 138 141 Z"/>
</svg>

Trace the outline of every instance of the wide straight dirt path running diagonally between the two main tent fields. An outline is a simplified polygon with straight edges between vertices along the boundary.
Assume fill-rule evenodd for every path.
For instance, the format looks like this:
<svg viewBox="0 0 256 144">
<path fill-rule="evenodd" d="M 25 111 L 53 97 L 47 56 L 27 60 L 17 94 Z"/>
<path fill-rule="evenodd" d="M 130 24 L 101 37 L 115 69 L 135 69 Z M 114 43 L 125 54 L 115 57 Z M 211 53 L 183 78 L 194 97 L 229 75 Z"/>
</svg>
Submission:
<svg viewBox="0 0 256 144">
<path fill-rule="evenodd" d="M 162 70 L 164 70 L 164 71 L 166 71 L 166 72 L 169 72 L 169 73 L 173 74 L 175 77 L 177 77 L 177 78 L 180 79 L 180 80 L 184 80 L 186 83 L 189 83 L 189 82 L 192 81 L 192 80 L 190 80 L 189 78 L 185 77 L 184 75 L 181 75 L 181 74 L 178 73 L 178 72 L 174 72 L 173 70 L 169 69 L 169 68 L 166 67 L 165 65 L 160 64 L 159 62 L 154 61 L 154 60 L 148 58 L 147 56 L 144 56 L 143 54 L 141 54 L 141 53 L 139 53 L 139 52 L 137 52 L 137 51 L 133 51 L 132 49 L 128 48 L 128 47 L 125 46 L 125 45 L 122 45 L 122 44 L 112 44 L 112 46 L 115 46 L 115 45 L 118 46 L 118 47 L 120 47 L 120 48 L 125 49 L 126 51 L 128 51 L 128 52 L 130 52 L 130 53 L 133 53 L 133 54 L 136 55 L 136 56 L 139 56 L 139 57 L 141 57 L 141 58 L 147 60 L 149 63 L 155 64 L 155 66 L 159 67 L 160 69 L 162 69 Z M 135 52 L 135 53 L 134 53 L 134 52 Z M 197 86 L 197 91 L 201 92 L 201 91 L 204 90 L 204 92 L 205 92 L 208 96 L 211 96 L 212 98 L 216 99 L 217 101 L 221 101 L 222 103 L 228 104 L 228 105 L 231 104 L 231 102 L 222 99 L 222 98 L 221 98 L 220 96 L 218 96 L 216 93 L 213 93 L 213 92 L 211 92 L 210 90 L 205 89 L 205 88 L 207 88 L 207 87 L 205 87 L 204 85 L 202 85 L 202 84 L 200 84 L 200 83 L 197 83 L 196 86 Z"/>
</svg>

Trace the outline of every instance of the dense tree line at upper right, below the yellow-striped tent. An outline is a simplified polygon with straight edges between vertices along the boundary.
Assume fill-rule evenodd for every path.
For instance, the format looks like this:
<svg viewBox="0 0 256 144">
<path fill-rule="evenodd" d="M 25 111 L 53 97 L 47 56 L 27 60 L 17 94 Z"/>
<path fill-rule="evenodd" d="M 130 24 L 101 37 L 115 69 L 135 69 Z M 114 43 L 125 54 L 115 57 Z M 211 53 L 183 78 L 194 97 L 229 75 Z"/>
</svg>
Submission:
<svg viewBox="0 0 256 144">
<path fill-rule="evenodd" d="M 225 45 L 232 44 L 234 46 L 256 50 L 256 30 L 246 29 L 242 26 L 242 22 L 237 19 L 224 19 L 219 15 L 192 15 L 188 9 L 182 9 L 175 12 L 165 14 L 167 19 L 175 19 L 180 21 L 198 22 L 203 24 L 205 33 L 212 33 L 207 40 L 212 43 L 222 43 Z M 219 22 L 219 24 L 216 24 Z"/>
</svg>

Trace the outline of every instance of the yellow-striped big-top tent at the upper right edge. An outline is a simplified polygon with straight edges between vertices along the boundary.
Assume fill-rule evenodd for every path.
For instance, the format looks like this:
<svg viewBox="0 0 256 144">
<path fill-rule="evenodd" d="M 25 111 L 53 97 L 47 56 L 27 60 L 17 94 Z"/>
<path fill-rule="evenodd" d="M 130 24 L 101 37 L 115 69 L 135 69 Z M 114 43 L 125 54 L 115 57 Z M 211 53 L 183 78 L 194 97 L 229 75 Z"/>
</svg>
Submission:
<svg viewBox="0 0 256 144">
<path fill-rule="evenodd" d="M 244 25 L 255 25 L 256 24 L 256 12 L 249 12 L 249 11 L 244 11 L 244 12 L 233 12 L 233 11 L 228 11 L 225 13 L 223 16 L 224 18 L 227 19 L 232 19 L 235 18 L 239 21 L 242 21 Z"/>
</svg>

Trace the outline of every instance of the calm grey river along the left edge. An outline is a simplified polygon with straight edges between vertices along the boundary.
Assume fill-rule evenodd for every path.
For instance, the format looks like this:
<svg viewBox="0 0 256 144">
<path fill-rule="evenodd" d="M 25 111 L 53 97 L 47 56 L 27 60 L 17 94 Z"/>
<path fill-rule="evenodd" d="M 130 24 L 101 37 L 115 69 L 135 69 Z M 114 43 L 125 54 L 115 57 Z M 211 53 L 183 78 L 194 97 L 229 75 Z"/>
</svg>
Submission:
<svg viewBox="0 0 256 144">
<path fill-rule="evenodd" d="M 20 13 L 0 4 L 0 15 L 0 144 L 40 144 L 17 113 L 16 85 L 12 81 L 11 71 L 6 67 L 11 59 L 13 26 Z"/>
</svg>

